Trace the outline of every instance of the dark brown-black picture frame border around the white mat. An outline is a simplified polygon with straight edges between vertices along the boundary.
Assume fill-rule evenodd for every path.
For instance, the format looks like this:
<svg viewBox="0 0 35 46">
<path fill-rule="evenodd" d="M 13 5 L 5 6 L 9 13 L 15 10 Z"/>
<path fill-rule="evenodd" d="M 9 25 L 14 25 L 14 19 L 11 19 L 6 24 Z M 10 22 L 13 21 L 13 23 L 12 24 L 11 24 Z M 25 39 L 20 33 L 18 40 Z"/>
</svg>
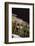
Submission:
<svg viewBox="0 0 35 46">
<path fill-rule="evenodd" d="M 25 42 L 8 42 L 8 4 L 32 5 L 33 6 L 33 40 Z M 5 2 L 5 44 L 32 43 L 34 42 L 34 3 Z"/>
</svg>

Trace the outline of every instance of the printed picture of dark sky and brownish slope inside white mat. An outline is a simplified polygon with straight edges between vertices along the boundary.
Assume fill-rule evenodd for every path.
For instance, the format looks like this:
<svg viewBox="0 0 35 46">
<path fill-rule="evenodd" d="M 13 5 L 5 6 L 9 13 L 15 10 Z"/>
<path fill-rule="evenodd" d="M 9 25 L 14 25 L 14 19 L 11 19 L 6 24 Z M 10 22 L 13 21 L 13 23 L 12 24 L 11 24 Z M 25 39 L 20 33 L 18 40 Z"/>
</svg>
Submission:
<svg viewBox="0 0 35 46">
<path fill-rule="evenodd" d="M 29 37 L 29 9 L 12 8 L 12 37 Z"/>
</svg>

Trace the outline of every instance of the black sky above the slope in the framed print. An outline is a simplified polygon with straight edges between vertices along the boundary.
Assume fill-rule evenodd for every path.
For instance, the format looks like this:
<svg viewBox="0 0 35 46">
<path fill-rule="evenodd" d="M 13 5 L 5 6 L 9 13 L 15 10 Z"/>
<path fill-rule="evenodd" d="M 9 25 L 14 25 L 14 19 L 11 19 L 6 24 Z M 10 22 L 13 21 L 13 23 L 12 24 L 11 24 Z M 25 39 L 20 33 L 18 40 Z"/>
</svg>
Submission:
<svg viewBox="0 0 35 46">
<path fill-rule="evenodd" d="M 12 8 L 12 13 L 18 18 L 26 21 L 29 24 L 29 9 L 28 8 Z"/>
</svg>

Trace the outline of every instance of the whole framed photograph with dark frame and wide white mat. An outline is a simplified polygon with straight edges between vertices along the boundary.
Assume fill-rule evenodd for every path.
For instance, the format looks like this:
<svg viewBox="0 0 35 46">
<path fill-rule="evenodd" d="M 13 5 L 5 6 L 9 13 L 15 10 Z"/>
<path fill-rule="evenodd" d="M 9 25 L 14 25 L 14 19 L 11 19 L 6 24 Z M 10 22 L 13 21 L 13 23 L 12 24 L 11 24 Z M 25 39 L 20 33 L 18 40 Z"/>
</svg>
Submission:
<svg viewBox="0 0 35 46">
<path fill-rule="evenodd" d="M 34 42 L 34 4 L 5 2 L 5 43 Z"/>
</svg>

